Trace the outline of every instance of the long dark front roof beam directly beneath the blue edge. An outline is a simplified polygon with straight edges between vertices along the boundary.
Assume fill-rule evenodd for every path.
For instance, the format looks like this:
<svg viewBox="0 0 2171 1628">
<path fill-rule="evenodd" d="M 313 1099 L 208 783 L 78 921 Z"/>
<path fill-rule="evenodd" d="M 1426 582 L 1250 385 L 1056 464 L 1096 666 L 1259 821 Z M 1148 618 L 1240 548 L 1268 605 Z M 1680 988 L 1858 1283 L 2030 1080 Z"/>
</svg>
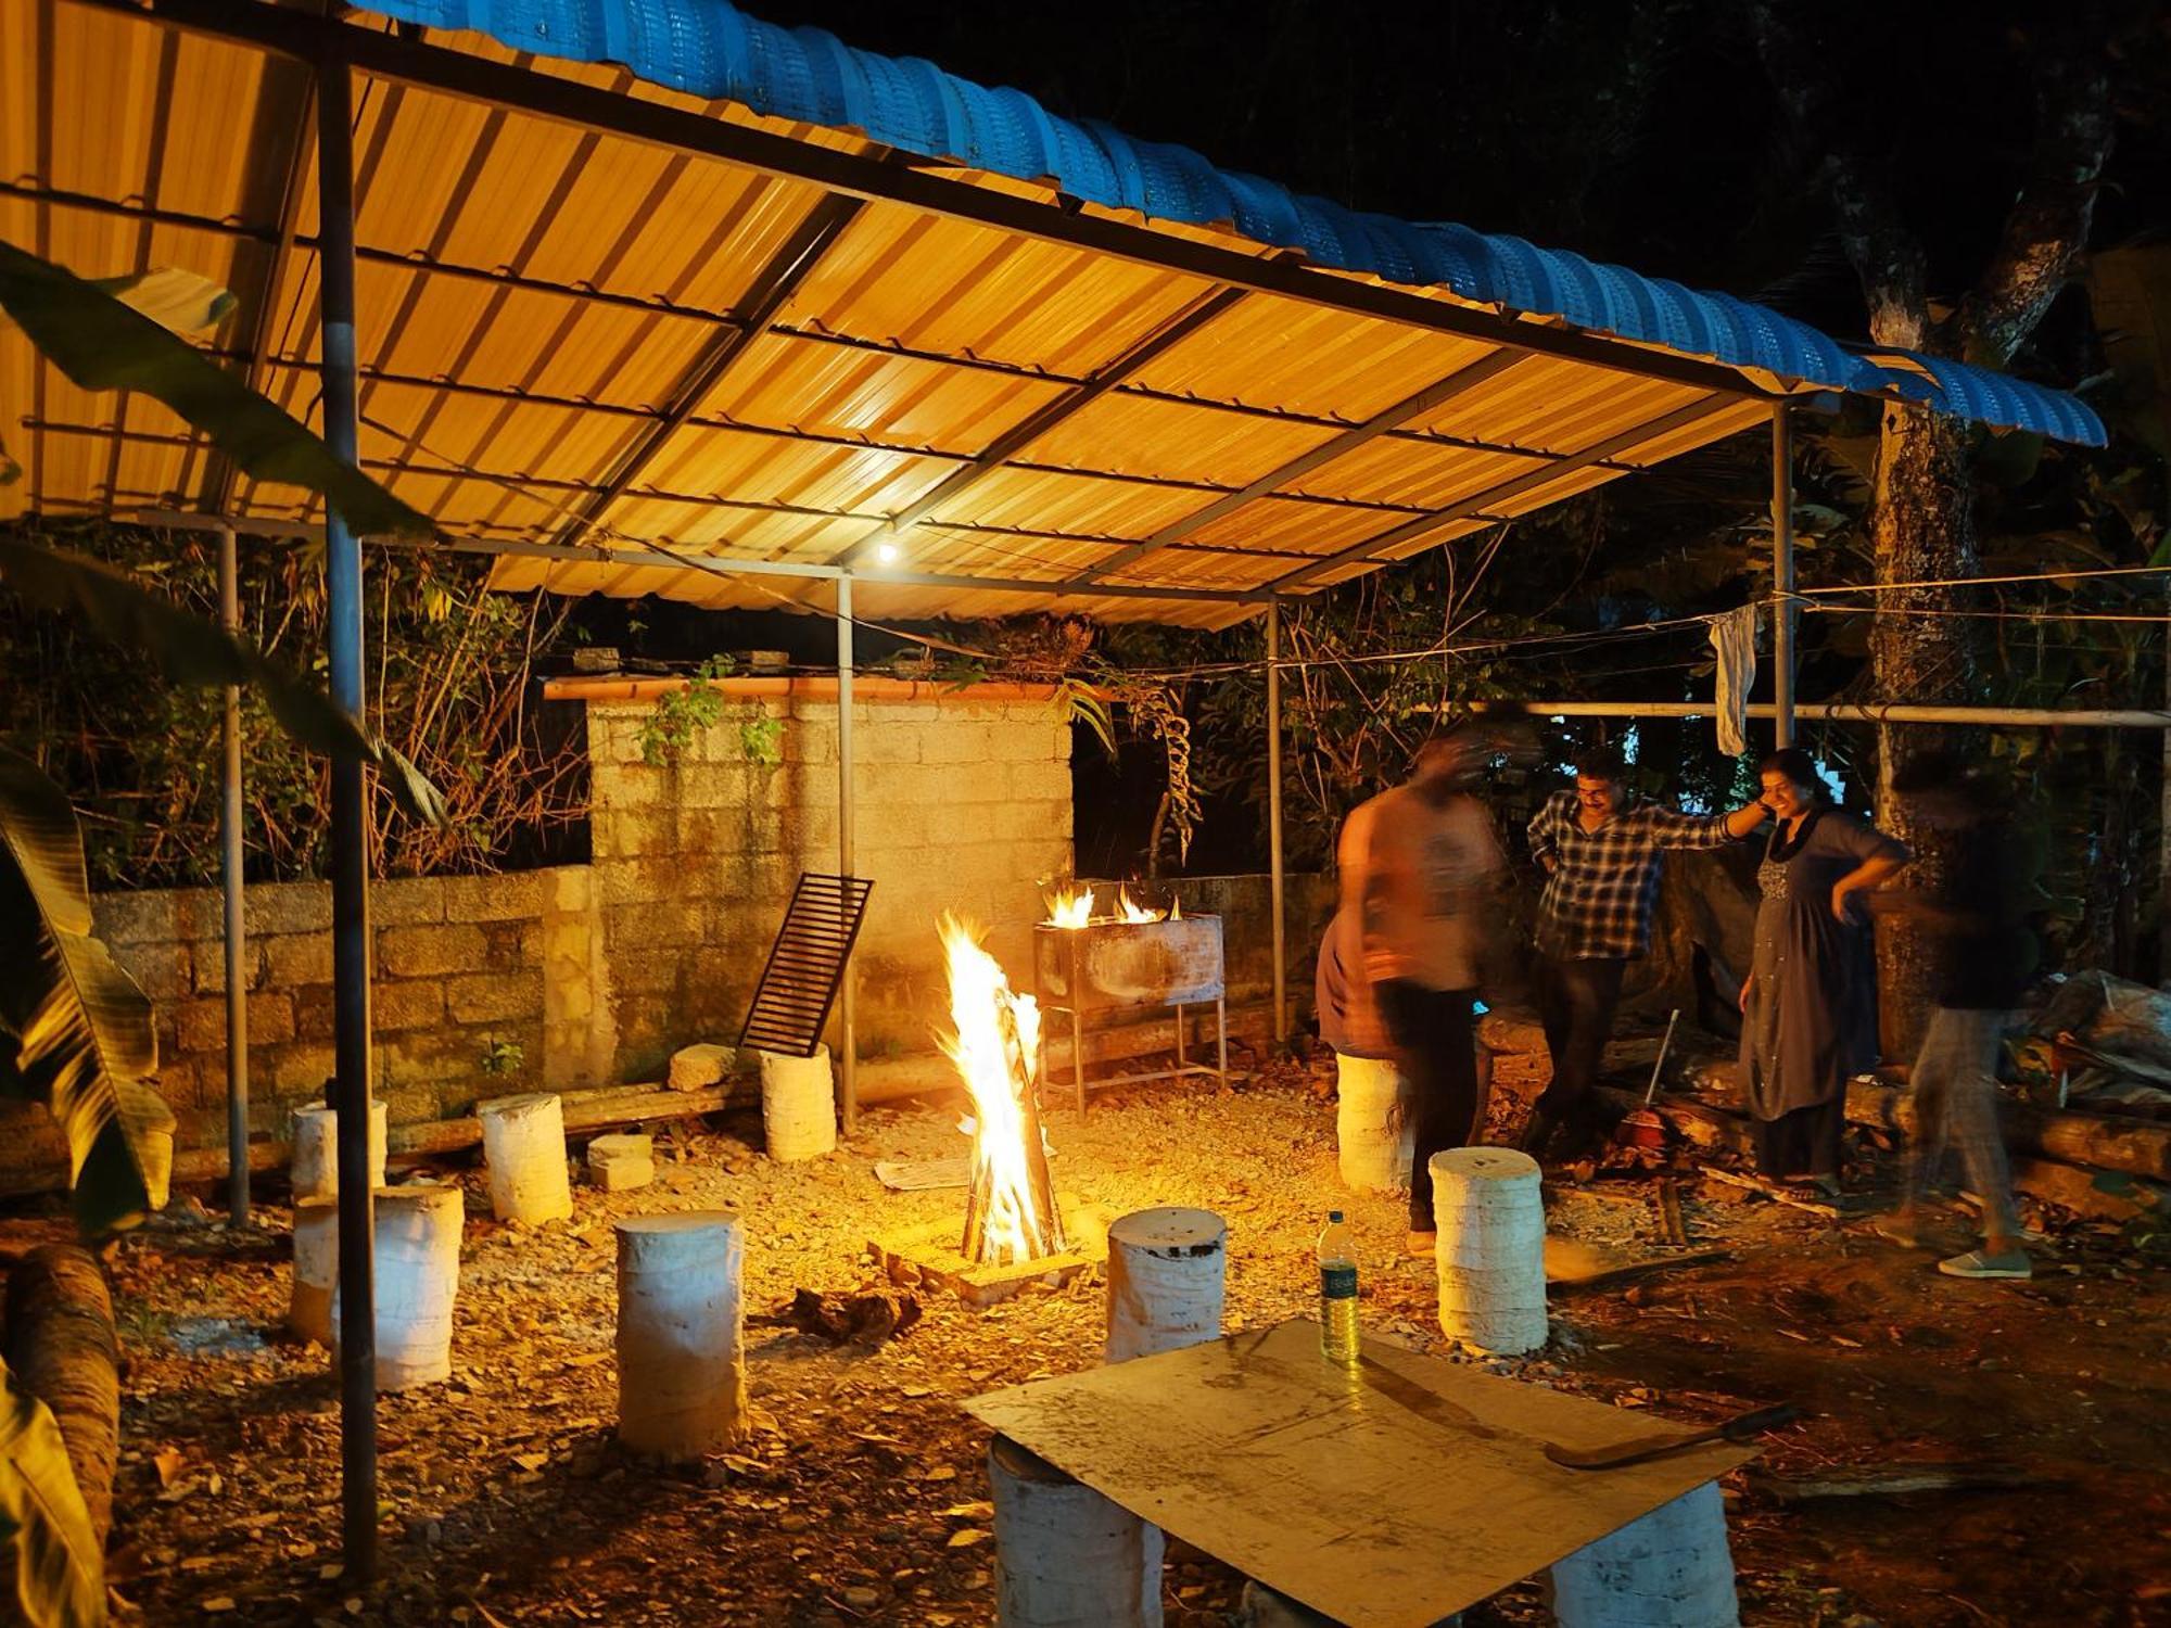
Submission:
<svg viewBox="0 0 2171 1628">
<path fill-rule="evenodd" d="M 321 61 L 332 54 L 363 74 L 395 85 L 512 109 L 558 124 L 606 130 L 627 141 L 716 158 L 847 198 L 903 204 L 1001 232 L 1109 254 L 1133 265 L 1181 271 L 1231 289 L 1296 300 L 1305 306 L 1561 356 L 1633 378 L 1663 378 L 1735 395 L 1769 395 L 1726 363 L 1661 352 L 1576 328 L 1524 321 L 1500 310 L 1455 304 L 1387 282 L 1335 276 L 1292 258 L 1261 256 L 1235 245 L 1159 232 L 1088 208 L 1064 208 L 1055 202 L 979 187 L 960 176 L 942 174 L 936 165 L 899 165 L 881 154 L 825 148 L 749 124 L 688 113 L 666 102 L 601 91 L 571 78 L 536 74 L 471 52 L 352 24 L 321 22 L 271 4 L 232 4 L 232 0 L 150 0 L 148 7 L 132 4 L 132 0 L 67 2 L 189 28 L 304 61 Z"/>
</svg>

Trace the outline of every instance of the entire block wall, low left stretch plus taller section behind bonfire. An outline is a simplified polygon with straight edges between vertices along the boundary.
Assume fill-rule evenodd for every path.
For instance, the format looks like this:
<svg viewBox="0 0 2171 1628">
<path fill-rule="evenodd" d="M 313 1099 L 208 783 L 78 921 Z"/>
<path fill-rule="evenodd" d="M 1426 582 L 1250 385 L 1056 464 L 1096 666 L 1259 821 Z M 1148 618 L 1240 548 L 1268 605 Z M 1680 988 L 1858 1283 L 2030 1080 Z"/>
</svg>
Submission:
<svg viewBox="0 0 2171 1628">
<path fill-rule="evenodd" d="M 373 1066 L 395 1124 L 515 1090 L 658 1081 L 675 1048 L 734 1040 L 799 873 L 838 868 L 834 679 L 721 684 L 723 716 L 662 766 L 640 749 L 653 688 L 554 690 L 588 705 L 591 864 L 371 886 Z M 742 725 L 756 721 L 779 725 L 775 762 L 749 755 Z M 853 740 L 855 870 L 875 881 L 860 1051 L 881 1059 L 927 1051 L 944 1022 L 940 912 L 986 927 L 1029 981 L 1042 883 L 1070 870 L 1070 725 L 1044 688 L 864 679 Z M 180 1144 L 221 1144 L 217 890 L 96 905 L 98 931 L 156 1003 L 156 1083 Z M 252 886 L 245 927 L 252 1120 L 282 1135 L 287 1111 L 332 1074 L 330 888 Z M 484 1072 L 493 1042 L 519 1046 L 515 1072 Z M 59 1153 L 35 1109 L 0 1105 L 0 1185 Z"/>
</svg>

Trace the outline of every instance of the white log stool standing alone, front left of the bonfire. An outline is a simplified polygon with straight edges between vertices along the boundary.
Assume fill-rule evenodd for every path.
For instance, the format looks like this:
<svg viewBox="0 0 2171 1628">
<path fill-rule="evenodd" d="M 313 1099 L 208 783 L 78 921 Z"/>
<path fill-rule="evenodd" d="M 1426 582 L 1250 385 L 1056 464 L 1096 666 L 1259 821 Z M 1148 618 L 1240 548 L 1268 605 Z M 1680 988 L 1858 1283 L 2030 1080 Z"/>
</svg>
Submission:
<svg viewBox="0 0 2171 1628">
<path fill-rule="evenodd" d="M 699 1459 L 747 1428 L 736 1216 L 690 1209 L 619 1222 L 619 1441 Z"/>
</svg>

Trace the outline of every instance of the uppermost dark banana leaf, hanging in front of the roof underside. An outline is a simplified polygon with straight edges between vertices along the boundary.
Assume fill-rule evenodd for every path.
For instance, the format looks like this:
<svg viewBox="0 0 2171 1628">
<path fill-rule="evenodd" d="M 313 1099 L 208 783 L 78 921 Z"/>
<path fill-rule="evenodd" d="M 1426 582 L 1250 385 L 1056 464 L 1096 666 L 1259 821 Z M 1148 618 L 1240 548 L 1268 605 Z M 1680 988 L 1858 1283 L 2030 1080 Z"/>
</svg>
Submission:
<svg viewBox="0 0 2171 1628">
<path fill-rule="evenodd" d="M 321 493 L 356 534 L 434 536 L 423 514 L 156 317 L 4 239 L 0 310 L 85 391 L 141 391 L 165 402 L 256 480 Z"/>
</svg>

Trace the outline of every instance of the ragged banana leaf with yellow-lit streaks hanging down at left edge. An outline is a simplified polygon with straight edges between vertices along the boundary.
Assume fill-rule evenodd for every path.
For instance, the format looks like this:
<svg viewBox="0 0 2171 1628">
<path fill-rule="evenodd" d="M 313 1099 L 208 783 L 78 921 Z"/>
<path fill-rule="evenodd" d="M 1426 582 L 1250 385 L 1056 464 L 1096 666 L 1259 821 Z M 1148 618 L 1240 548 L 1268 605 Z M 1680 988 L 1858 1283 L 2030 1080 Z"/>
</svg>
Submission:
<svg viewBox="0 0 2171 1628">
<path fill-rule="evenodd" d="M 163 1116 L 152 1005 L 91 933 L 67 792 L 0 747 L 0 1096 L 43 1103 L 67 1137 L 87 1233 L 150 1209 L 143 1133 Z"/>
</svg>

